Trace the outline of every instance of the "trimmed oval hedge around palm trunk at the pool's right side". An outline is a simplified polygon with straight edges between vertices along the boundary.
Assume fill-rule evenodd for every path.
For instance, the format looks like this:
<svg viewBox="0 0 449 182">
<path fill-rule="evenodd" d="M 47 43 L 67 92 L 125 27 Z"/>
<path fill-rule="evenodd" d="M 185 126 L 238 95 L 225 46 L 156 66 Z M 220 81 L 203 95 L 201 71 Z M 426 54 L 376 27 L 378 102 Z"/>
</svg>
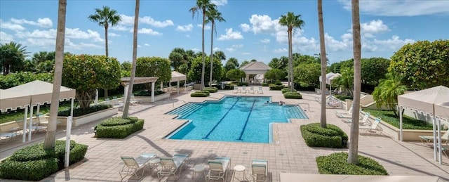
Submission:
<svg viewBox="0 0 449 182">
<path fill-rule="evenodd" d="M 320 123 L 301 125 L 302 138 L 309 147 L 347 148 L 348 136 L 338 126 L 328 124 L 321 128 Z"/>
</svg>

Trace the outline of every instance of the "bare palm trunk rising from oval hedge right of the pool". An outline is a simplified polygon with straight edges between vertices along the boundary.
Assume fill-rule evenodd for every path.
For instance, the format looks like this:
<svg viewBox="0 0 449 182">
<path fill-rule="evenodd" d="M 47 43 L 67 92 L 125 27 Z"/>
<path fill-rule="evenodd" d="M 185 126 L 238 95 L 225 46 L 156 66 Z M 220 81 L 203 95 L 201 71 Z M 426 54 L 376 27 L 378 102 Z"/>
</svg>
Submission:
<svg viewBox="0 0 449 182">
<path fill-rule="evenodd" d="M 323 0 L 318 0 L 318 25 L 320 34 L 320 60 L 321 60 L 321 78 L 326 79 L 326 44 L 324 42 L 324 23 L 323 23 Z M 326 121 L 326 80 L 321 82 L 321 127 L 327 127 Z"/>
</svg>

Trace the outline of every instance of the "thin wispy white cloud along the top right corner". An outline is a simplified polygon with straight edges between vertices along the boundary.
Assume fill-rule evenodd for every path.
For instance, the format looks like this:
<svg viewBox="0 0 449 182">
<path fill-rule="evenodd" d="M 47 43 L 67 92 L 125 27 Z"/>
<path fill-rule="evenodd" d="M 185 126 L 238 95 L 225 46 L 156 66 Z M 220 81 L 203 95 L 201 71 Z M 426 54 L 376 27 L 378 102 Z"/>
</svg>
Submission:
<svg viewBox="0 0 449 182">
<path fill-rule="evenodd" d="M 339 0 L 347 11 L 351 11 L 350 0 Z M 360 12 L 368 15 L 416 16 L 448 14 L 448 1 L 360 1 Z"/>
</svg>

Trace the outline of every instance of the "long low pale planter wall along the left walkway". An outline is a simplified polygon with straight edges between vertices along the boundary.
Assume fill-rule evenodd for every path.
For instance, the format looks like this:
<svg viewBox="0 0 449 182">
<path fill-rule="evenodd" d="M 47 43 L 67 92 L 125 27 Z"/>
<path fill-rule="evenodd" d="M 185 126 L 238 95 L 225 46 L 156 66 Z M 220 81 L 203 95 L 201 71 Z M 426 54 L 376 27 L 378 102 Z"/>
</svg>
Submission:
<svg viewBox="0 0 449 182">
<path fill-rule="evenodd" d="M 107 110 L 100 110 L 98 112 L 92 112 L 88 115 L 82 115 L 73 118 L 72 127 L 79 126 L 81 124 L 86 124 L 88 122 L 98 121 L 106 117 L 112 117 L 119 112 L 119 108 L 109 108 Z M 67 126 L 67 117 L 58 116 L 58 126 Z"/>
</svg>

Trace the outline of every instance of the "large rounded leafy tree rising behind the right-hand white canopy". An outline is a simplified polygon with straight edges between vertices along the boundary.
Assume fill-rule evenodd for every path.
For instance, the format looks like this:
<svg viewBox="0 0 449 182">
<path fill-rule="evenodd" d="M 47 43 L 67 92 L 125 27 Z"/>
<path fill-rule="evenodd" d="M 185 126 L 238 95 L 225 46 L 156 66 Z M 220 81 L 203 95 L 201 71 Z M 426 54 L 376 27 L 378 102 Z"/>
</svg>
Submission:
<svg viewBox="0 0 449 182">
<path fill-rule="evenodd" d="M 417 41 L 402 46 L 393 56 L 389 72 L 402 75 L 409 89 L 449 86 L 449 40 Z"/>
</svg>

